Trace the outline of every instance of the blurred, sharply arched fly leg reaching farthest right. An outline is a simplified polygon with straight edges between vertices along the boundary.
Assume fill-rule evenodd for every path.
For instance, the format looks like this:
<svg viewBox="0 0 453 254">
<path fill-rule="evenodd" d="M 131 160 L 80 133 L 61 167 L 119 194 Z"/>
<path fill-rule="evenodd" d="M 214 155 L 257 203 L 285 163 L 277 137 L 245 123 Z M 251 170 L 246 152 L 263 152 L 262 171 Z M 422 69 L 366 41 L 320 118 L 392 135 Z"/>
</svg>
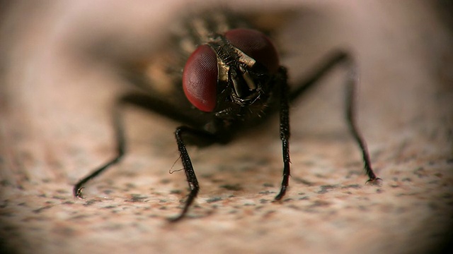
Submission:
<svg viewBox="0 0 453 254">
<path fill-rule="evenodd" d="M 348 122 L 350 133 L 355 139 L 357 145 L 359 145 L 362 152 L 362 158 L 364 162 L 364 169 L 368 176 L 368 182 L 377 183 L 379 179 L 371 166 L 371 160 L 369 159 L 369 152 L 367 150 L 367 144 L 365 139 L 360 134 L 359 128 L 355 120 L 355 90 L 357 87 L 357 66 L 355 66 L 354 61 L 350 55 L 346 52 L 337 52 L 333 54 L 328 61 L 326 61 L 321 68 L 319 68 L 313 75 L 307 78 L 302 85 L 294 88 L 289 94 L 289 101 L 292 102 L 295 99 L 298 99 L 300 95 L 304 94 L 306 90 L 309 90 L 310 87 L 313 87 L 328 71 L 331 71 L 334 67 L 345 64 L 348 67 L 348 80 L 346 82 L 346 106 L 345 106 L 345 117 Z"/>
</svg>

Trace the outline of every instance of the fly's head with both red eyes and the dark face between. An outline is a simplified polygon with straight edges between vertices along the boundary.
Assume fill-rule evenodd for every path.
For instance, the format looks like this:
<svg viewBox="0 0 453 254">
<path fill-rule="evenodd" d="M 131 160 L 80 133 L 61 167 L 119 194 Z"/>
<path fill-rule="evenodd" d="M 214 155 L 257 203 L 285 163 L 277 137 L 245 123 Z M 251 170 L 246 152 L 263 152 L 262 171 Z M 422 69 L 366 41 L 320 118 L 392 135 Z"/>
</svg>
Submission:
<svg viewBox="0 0 453 254">
<path fill-rule="evenodd" d="M 234 29 L 212 35 L 185 63 L 183 90 L 200 111 L 219 118 L 262 110 L 272 97 L 279 59 L 262 32 Z"/>
</svg>

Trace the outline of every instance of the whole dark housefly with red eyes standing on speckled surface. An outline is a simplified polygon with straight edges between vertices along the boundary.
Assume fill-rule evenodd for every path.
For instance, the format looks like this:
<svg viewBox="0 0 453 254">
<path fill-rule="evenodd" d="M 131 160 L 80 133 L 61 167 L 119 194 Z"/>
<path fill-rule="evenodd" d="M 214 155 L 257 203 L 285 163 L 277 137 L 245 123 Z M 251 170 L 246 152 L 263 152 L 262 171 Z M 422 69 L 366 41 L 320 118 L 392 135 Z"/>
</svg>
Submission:
<svg viewBox="0 0 453 254">
<path fill-rule="evenodd" d="M 277 112 L 280 114 L 283 176 L 275 200 L 282 199 L 290 175 L 289 103 L 340 64 L 348 66 L 349 70 L 345 112 L 350 133 L 362 152 L 368 181 L 377 182 L 379 178 L 372 170 L 365 140 L 355 123 L 353 98 L 357 78 L 354 62 L 347 52 L 331 54 L 319 70 L 289 89 L 287 68 L 280 65 L 277 48 L 267 35 L 272 31 L 250 18 L 209 11 L 170 29 L 173 32 L 171 50 L 159 52 L 143 65 L 142 71 L 129 75 L 141 92 L 124 95 L 116 104 L 113 119 L 117 155 L 76 183 L 76 197 L 83 198 L 85 183 L 120 162 L 125 155 L 122 119 L 117 109 L 127 103 L 183 123 L 176 128 L 175 136 L 190 193 L 182 212 L 171 221 L 185 216 L 200 190 L 186 149 L 188 141 L 195 141 L 195 145 L 197 141 L 204 145 L 226 144 L 244 128 L 256 126 Z"/>
</svg>

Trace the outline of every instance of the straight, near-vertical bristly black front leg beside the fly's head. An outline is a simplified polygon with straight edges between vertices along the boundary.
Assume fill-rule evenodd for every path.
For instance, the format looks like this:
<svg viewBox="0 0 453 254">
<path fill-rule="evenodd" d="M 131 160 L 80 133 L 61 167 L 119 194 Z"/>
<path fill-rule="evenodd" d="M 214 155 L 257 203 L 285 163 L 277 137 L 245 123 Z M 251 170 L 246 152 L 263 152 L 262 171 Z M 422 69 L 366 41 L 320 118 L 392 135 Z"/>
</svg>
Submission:
<svg viewBox="0 0 453 254">
<path fill-rule="evenodd" d="M 280 139 L 282 140 L 282 155 L 283 155 L 283 180 L 280 188 L 280 193 L 275 196 L 275 200 L 280 200 L 285 195 L 289 176 L 291 174 L 289 169 L 289 106 L 288 106 L 288 84 L 287 84 L 287 70 L 285 67 L 279 69 L 280 81 Z"/>
</svg>

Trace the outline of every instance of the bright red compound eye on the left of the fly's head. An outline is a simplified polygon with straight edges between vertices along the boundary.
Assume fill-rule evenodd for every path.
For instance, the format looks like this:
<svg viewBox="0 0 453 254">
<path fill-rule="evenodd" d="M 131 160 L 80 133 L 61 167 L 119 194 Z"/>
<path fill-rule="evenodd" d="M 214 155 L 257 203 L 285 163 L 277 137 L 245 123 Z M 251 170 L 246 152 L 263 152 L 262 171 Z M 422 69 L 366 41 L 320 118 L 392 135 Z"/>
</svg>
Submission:
<svg viewBox="0 0 453 254">
<path fill-rule="evenodd" d="M 201 45 L 189 56 L 183 71 L 185 97 L 201 111 L 214 110 L 217 97 L 217 55 L 214 50 Z"/>
</svg>

